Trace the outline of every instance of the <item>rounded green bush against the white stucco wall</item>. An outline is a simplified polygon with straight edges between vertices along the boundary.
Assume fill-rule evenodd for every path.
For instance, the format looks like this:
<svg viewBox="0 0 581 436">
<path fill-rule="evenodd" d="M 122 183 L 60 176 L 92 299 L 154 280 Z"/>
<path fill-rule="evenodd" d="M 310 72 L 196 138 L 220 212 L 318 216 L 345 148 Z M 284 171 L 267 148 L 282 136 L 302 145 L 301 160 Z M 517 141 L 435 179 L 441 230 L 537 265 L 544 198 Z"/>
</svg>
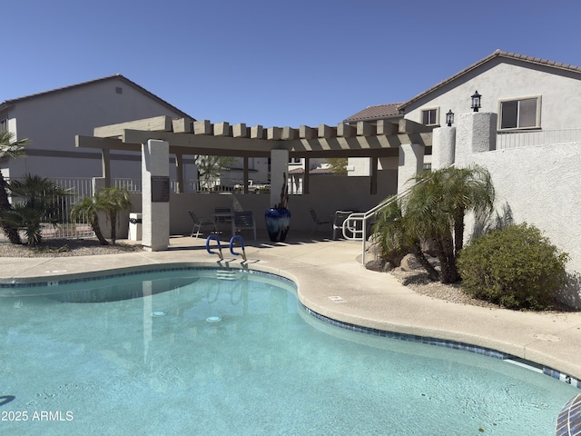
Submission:
<svg viewBox="0 0 581 436">
<path fill-rule="evenodd" d="M 511 309 L 547 310 L 565 285 L 568 254 L 535 226 L 512 224 L 470 243 L 458 256 L 462 289 Z"/>
</svg>

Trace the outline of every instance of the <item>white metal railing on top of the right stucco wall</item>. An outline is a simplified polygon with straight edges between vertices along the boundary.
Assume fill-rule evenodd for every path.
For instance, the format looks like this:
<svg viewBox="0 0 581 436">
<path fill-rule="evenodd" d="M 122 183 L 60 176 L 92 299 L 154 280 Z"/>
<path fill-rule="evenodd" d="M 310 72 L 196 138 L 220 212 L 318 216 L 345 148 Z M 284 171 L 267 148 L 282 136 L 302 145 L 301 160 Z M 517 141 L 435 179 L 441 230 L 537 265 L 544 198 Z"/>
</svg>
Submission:
<svg viewBox="0 0 581 436">
<path fill-rule="evenodd" d="M 566 143 L 581 143 L 581 129 L 527 130 L 497 133 L 497 150 Z"/>
</svg>

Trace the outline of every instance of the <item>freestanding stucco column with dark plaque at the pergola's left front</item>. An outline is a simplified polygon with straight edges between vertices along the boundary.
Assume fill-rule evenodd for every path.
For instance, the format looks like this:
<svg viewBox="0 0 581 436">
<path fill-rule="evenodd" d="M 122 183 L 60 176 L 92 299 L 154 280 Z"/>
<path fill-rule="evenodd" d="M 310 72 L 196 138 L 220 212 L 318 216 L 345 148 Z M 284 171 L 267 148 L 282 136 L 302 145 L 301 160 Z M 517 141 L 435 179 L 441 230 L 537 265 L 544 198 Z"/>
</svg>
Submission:
<svg viewBox="0 0 581 436">
<path fill-rule="evenodd" d="M 167 250 L 170 243 L 170 144 L 150 139 L 142 144 L 143 248 Z"/>
</svg>

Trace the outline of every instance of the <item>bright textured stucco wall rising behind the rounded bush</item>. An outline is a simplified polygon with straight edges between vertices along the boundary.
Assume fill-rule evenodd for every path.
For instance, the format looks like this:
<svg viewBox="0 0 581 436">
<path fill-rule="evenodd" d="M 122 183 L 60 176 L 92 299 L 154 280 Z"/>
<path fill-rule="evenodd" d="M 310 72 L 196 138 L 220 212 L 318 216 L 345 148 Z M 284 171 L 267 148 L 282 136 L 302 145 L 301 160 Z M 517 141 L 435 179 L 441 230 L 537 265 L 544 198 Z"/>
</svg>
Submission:
<svg viewBox="0 0 581 436">
<path fill-rule="evenodd" d="M 536 225 L 581 272 L 581 144 L 551 144 L 473 155 L 492 174 L 497 207 Z"/>
</svg>

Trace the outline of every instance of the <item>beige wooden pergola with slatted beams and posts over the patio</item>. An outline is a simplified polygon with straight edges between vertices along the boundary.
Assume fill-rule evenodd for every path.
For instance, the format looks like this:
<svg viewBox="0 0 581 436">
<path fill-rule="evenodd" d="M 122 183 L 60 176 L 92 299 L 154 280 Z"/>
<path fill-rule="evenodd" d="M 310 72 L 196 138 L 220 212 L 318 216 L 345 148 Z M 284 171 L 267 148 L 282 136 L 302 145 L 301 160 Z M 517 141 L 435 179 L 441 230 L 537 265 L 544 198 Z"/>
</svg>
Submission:
<svg viewBox="0 0 581 436">
<path fill-rule="evenodd" d="M 402 144 L 431 147 L 431 128 L 400 119 L 397 124 L 386 120 L 375 123 L 338 124 L 332 127 L 301 125 L 291 127 L 247 127 L 246 124 L 215 123 L 189 118 L 172 119 L 157 116 L 121 124 L 105 125 L 94 129 L 94 136 L 79 136 L 76 147 L 96 148 L 102 151 L 105 186 L 111 186 L 111 150 L 141 152 L 148 140 L 169 143 L 170 154 L 175 155 L 178 185 L 183 186 L 184 155 L 234 156 L 243 159 L 243 177 L 249 179 L 250 157 L 271 157 L 271 150 L 285 149 L 289 157 L 310 158 L 368 157 L 371 177 L 370 193 L 377 193 L 378 160 L 399 155 Z M 309 193 L 309 172 L 304 174 L 303 190 Z M 244 183 L 247 190 L 248 183 Z"/>
</svg>

